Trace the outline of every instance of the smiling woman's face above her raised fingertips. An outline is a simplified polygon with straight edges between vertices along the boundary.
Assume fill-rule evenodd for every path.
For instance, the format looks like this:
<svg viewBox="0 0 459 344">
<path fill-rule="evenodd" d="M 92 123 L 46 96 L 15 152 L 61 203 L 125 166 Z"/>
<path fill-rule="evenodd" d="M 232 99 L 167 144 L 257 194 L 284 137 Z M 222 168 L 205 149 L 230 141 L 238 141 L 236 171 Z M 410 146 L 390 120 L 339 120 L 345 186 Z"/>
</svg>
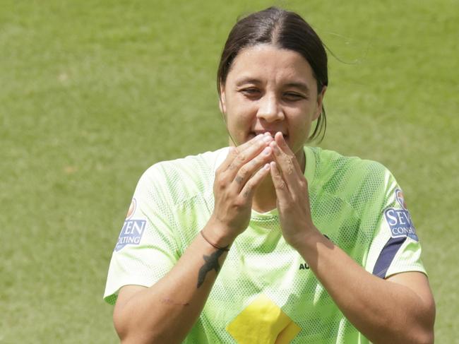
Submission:
<svg viewBox="0 0 459 344">
<path fill-rule="evenodd" d="M 321 113 L 326 88 L 317 93 L 316 78 L 302 55 L 256 45 L 239 52 L 220 90 L 220 109 L 237 146 L 257 134 L 280 131 L 298 156 L 311 122 Z"/>
</svg>

